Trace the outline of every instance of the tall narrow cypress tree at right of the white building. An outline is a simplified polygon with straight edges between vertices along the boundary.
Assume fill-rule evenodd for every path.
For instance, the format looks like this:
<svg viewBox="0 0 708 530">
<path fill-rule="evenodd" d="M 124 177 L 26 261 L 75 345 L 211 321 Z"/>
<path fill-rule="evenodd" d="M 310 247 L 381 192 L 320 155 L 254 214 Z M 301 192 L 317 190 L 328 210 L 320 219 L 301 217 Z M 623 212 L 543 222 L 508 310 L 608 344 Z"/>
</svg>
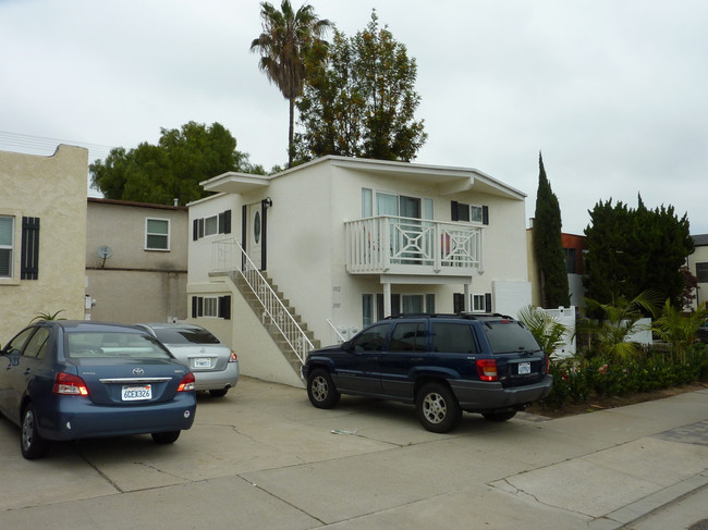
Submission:
<svg viewBox="0 0 708 530">
<path fill-rule="evenodd" d="M 567 270 L 561 241 L 561 209 L 538 155 L 538 192 L 534 217 L 534 256 L 538 263 L 541 306 L 570 306 Z"/>
</svg>

